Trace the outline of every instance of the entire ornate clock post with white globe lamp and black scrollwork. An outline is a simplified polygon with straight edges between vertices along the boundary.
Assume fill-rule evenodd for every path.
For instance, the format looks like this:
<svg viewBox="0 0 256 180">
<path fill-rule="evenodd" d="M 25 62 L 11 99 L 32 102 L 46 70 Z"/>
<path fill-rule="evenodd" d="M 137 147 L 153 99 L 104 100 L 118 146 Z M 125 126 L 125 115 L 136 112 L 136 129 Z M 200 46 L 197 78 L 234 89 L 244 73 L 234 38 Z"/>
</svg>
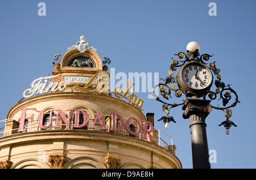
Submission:
<svg viewBox="0 0 256 180">
<path fill-rule="evenodd" d="M 193 168 L 195 169 L 210 169 L 209 162 L 209 149 L 207 141 L 207 124 L 205 123 L 205 118 L 209 115 L 212 109 L 222 110 L 225 112 L 226 121 L 223 121 L 220 125 L 224 125 L 226 128 L 226 134 L 229 135 L 229 128 L 237 125 L 230 121 L 232 116 L 232 110 L 237 105 L 238 96 L 236 91 L 230 88 L 230 84 L 225 85 L 221 81 L 220 69 L 216 68 L 215 62 L 206 63 L 212 55 L 209 54 L 199 54 L 200 45 L 193 41 L 189 42 L 187 45 L 187 53 L 179 52 L 175 55 L 180 61 L 172 58 L 172 64 L 170 66 L 170 71 L 166 79 L 161 79 L 159 84 L 156 84 L 153 89 L 153 95 L 158 102 L 162 102 L 162 110 L 166 112 L 166 116 L 163 116 L 158 121 L 163 121 L 168 128 L 169 122 L 174 122 L 174 117 L 171 117 L 170 110 L 177 106 L 183 105 L 182 110 L 184 110 L 183 118 L 190 118 L 189 128 L 191 129 L 191 144 L 192 144 L 192 159 Z M 180 64 L 181 63 L 181 64 Z M 176 77 L 172 76 L 174 71 L 177 70 Z M 213 73 L 212 73 L 213 72 Z M 217 79 L 213 83 L 213 74 L 217 75 Z M 177 84 L 177 88 L 175 87 Z M 212 84 L 216 85 L 216 89 L 212 90 Z M 162 100 L 158 95 L 156 95 L 155 90 L 159 88 L 158 95 L 161 95 L 164 100 Z M 171 92 L 174 91 L 174 96 L 177 98 L 184 97 L 180 103 L 166 102 L 169 98 L 174 96 Z M 232 96 L 234 97 L 233 103 Z M 220 96 L 220 98 L 217 98 Z M 210 103 L 212 100 L 222 100 L 223 106 L 213 106 Z"/>
</svg>

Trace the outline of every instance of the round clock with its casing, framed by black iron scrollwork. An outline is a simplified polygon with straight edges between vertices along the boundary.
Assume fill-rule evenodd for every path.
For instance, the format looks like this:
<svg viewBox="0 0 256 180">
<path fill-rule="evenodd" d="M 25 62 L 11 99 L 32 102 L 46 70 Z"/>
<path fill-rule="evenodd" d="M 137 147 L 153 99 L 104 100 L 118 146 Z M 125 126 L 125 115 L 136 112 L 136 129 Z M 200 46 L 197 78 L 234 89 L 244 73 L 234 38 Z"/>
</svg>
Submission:
<svg viewBox="0 0 256 180">
<path fill-rule="evenodd" d="M 203 95 L 209 91 L 213 83 L 210 69 L 199 62 L 189 62 L 177 73 L 177 85 L 189 96 Z"/>
</svg>

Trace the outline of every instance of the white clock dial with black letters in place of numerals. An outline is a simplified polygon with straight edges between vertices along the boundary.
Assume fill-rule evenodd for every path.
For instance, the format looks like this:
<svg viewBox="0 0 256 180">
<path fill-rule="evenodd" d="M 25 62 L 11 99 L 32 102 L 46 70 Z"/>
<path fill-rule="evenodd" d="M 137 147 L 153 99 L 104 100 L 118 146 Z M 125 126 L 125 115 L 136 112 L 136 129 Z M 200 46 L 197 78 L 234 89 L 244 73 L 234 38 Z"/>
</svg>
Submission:
<svg viewBox="0 0 256 180">
<path fill-rule="evenodd" d="M 204 89 L 210 85 L 212 74 L 203 66 L 190 65 L 182 72 L 184 82 L 193 89 Z"/>
</svg>

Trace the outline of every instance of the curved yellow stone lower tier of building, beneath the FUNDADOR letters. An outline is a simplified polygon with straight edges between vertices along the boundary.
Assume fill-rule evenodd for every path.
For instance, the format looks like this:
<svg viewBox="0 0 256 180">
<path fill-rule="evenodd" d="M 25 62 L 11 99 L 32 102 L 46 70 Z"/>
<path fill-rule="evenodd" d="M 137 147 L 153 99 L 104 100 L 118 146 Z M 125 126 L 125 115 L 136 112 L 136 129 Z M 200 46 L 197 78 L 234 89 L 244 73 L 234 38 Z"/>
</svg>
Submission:
<svg viewBox="0 0 256 180">
<path fill-rule="evenodd" d="M 11 168 L 52 168 L 52 155 L 63 156 L 57 168 L 181 168 L 179 159 L 157 144 L 130 136 L 102 131 L 52 130 L 14 134 L 0 139 L 1 156 L 7 156 Z M 5 148 L 3 148 L 5 147 Z M 10 154 L 10 155 L 9 155 Z M 4 156 L 5 155 L 5 156 Z"/>
</svg>

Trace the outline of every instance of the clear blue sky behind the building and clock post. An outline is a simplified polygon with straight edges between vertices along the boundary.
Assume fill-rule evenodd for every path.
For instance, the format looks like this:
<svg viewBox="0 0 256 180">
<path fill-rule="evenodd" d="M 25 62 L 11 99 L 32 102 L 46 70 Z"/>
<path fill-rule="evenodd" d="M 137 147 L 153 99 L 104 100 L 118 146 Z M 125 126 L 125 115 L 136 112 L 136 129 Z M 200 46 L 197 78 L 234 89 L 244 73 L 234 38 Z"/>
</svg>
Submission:
<svg viewBox="0 0 256 180">
<path fill-rule="evenodd" d="M 46 16 L 38 15 L 38 3 L 46 3 Z M 210 2 L 217 5 L 217 16 L 209 16 Z M 225 134 L 218 125 L 225 113 L 213 110 L 207 117 L 209 149 L 217 152 L 212 168 L 256 168 L 255 89 L 255 7 L 256 1 L 0 1 L 1 108 L 5 119 L 32 80 L 54 70 L 55 54 L 84 35 L 103 59 L 109 57 L 115 72 L 158 72 L 168 76 L 174 53 L 185 52 L 190 41 L 197 41 L 201 54 L 213 54 L 223 82 L 233 84 L 241 104 L 233 108 L 238 127 Z M 175 72 L 176 73 L 176 72 Z M 152 84 L 153 86 L 153 84 Z M 144 99 L 143 113 L 163 115 L 162 104 Z M 180 101 L 179 99 L 170 102 Z M 217 101 L 217 100 L 215 100 Z M 217 102 L 221 104 L 221 102 Z M 170 115 L 177 123 L 166 130 L 172 136 L 176 156 L 183 168 L 192 168 L 189 119 L 181 107 Z M 168 141 L 168 140 L 167 140 Z M 170 142 L 167 142 L 170 143 Z"/>
</svg>

